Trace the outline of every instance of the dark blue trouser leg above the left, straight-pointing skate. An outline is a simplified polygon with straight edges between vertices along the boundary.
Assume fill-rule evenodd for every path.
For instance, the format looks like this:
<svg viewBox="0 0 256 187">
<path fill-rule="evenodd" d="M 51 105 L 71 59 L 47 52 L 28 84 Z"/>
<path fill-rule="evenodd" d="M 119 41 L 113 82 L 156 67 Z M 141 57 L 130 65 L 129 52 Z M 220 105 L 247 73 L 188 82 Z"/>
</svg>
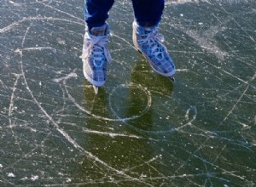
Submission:
<svg viewBox="0 0 256 187">
<path fill-rule="evenodd" d="M 84 20 L 89 28 L 103 26 L 114 0 L 84 0 Z"/>
</svg>

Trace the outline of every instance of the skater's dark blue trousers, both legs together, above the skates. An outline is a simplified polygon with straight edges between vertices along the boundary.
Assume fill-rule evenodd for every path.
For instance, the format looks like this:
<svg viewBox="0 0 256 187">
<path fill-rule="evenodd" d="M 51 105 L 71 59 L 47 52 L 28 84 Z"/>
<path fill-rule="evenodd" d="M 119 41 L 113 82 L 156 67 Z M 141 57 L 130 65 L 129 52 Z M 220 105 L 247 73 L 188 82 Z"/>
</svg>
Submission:
<svg viewBox="0 0 256 187">
<path fill-rule="evenodd" d="M 160 22 L 165 0 L 131 0 L 139 26 L 156 26 Z M 90 28 L 102 26 L 114 0 L 84 0 L 84 20 Z"/>
</svg>

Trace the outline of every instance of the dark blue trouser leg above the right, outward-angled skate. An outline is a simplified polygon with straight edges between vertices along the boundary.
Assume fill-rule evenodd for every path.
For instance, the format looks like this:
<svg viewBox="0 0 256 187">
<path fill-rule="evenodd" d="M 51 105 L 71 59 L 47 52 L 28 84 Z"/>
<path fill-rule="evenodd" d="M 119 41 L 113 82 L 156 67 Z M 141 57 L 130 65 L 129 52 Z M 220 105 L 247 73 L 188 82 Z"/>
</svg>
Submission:
<svg viewBox="0 0 256 187">
<path fill-rule="evenodd" d="M 132 0 L 135 20 L 139 26 L 156 26 L 163 14 L 164 0 Z"/>
</svg>

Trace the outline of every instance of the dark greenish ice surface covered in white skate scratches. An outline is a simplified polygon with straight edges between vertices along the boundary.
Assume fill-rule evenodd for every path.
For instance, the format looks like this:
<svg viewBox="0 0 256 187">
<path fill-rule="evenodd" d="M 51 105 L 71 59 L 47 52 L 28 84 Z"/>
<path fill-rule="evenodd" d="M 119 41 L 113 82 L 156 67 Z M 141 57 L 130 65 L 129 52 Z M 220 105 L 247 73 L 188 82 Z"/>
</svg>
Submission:
<svg viewBox="0 0 256 187">
<path fill-rule="evenodd" d="M 166 1 L 176 82 L 110 11 L 95 95 L 79 58 L 82 0 L 0 0 L 0 186 L 255 186 L 256 2 Z"/>
</svg>

